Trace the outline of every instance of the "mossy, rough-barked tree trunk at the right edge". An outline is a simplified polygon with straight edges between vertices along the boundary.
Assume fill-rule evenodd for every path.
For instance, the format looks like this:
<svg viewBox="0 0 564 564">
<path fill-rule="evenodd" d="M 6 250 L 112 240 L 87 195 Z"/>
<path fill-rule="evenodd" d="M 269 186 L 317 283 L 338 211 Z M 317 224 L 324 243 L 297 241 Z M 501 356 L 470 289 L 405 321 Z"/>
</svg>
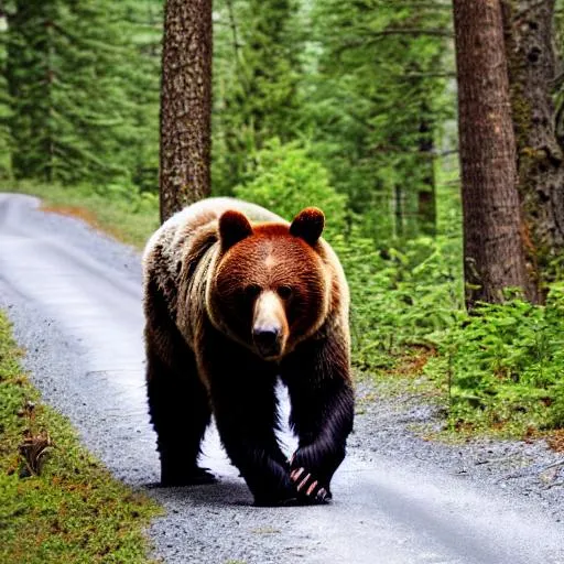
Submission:
<svg viewBox="0 0 564 564">
<path fill-rule="evenodd" d="M 555 0 L 503 0 L 519 195 L 527 259 L 535 280 L 551 279 L 564 250 L 564 163 L 555 132 Z"/>
</svg>

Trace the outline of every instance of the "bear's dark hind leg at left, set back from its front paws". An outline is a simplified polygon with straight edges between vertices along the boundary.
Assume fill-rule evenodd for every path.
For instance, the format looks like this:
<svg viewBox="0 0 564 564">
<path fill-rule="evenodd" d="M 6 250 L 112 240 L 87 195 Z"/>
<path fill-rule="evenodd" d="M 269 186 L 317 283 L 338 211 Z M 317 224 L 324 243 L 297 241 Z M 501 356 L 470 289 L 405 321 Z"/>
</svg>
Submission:
<svg viewBox="0 0 564 564">
<path fill-rule="evenodd" d="M 210 410 L 192 351 L 184 355 L 182 372 L 176 372 L 148 350 L 147 390 L 161 456 L 161 484 L 184 486 L 216 481 L 197 465 Z"/>
</svg>

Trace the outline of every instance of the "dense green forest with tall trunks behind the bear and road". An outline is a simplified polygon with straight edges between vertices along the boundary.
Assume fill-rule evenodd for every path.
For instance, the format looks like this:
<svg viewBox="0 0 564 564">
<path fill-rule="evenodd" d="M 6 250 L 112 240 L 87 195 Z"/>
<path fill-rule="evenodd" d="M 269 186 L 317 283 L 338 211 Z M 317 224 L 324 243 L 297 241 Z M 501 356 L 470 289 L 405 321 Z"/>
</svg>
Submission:
<svg viewBox="0 0 564 564">
<path fill-rule="evenodd" d="M 318 206 L 359 375 L 408 375 L 449 431 L 564 427 L 560 0 L 202 0 L 187 20 L 183 4 L 0 2 L 2 189 L 139 247 L 166 191 L 288 219 Z M 202 78 L 174 39 L 206 11 Z M 183 145 L 191 80 L 209 82 L 210 133 Z"/>
</svg>

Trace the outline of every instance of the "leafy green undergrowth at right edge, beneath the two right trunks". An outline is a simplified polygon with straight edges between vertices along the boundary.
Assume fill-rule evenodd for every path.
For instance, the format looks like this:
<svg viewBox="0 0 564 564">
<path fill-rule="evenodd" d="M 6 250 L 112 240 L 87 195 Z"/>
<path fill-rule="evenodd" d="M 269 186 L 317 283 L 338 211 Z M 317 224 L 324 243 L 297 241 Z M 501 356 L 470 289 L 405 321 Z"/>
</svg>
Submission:
<svg viewBox="0 0 564 564">
<path fill-rule="evenodd" d="M 441 341 L 430 373 L 449 382 L 449 421 L 494 427 L 564 422 L 564 286 L 546 305 L 480 304 Z"/>
</svg>

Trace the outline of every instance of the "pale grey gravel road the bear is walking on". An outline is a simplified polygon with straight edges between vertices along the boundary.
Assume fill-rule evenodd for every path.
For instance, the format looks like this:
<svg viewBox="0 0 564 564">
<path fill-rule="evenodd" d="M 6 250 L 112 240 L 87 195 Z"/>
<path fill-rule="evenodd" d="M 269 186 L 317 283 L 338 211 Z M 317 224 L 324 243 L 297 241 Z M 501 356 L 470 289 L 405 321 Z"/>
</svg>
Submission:
<svg viewBox="0 0 564 564">
<path fill-rule="evenodd" d="M 163 562 L 564 564 L 564 456 L 543 443 L 425 442 L 409 427 L 437 414 L 408 397 L 357 416 L 330 506 L 252 507 L 214 430 L 203 462 L 219 484 L 150 487 L 140 300 L 138 252 L 0 194 L 0 307 L 25 366 L 112 473 L 165 507 L 149 531 Z"/>
</svg>

